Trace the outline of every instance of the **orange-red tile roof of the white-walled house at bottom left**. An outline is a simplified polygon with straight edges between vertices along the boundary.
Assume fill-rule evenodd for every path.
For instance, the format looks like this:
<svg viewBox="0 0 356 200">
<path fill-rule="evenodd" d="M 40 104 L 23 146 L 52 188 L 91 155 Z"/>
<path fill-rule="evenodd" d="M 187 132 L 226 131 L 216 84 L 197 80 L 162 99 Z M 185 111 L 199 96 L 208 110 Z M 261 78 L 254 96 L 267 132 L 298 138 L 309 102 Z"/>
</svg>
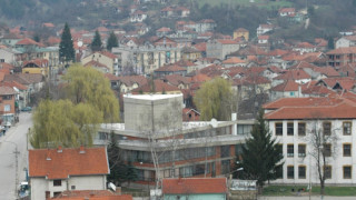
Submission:
<svg viewBox="0 0 356 200">
<path fill-rule="evenodd" d="M 29 177 L 67 179 L 69 176 L 110 173 L 106 148 L 29 150 Z"/>
</svg>

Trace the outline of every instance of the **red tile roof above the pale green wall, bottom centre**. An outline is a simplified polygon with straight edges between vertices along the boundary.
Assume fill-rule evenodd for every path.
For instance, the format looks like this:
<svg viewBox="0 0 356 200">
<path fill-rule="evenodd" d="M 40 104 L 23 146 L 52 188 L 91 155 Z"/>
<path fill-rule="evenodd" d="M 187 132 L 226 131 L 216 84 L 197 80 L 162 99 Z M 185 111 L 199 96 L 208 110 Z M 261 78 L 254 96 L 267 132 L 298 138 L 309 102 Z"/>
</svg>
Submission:
<svg viewBox="0 0 356 200">
<path fill-rule="evenodd" d="M 164 179 L 164 194 L 226 193 L 226 178 L 180 178 Z"/>
</svg>

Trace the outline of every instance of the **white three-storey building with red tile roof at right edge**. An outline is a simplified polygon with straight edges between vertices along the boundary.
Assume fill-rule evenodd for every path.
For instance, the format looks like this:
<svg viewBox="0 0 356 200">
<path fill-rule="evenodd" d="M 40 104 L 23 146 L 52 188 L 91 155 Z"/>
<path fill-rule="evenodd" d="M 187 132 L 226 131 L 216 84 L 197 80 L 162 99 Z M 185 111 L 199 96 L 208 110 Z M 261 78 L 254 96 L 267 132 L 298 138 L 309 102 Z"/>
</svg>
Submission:
<svg viewBox="0 0 356 200">
<path fill-rule="evenodd" d="M 285 98 L 264 106 L 284 154 L 283 173 L 275 182 L 319 183 L 318 167 L 327 184 L 356 182 L 356 102 L 355 94 L 344 96 Z"/>
</svg>

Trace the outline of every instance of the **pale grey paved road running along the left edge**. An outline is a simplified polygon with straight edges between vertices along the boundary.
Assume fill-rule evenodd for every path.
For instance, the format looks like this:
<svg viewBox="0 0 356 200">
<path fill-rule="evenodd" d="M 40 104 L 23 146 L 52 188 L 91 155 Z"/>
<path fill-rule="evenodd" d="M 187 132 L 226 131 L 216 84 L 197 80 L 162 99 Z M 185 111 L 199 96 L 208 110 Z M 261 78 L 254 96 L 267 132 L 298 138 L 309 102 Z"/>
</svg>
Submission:
<svg viewBox="0 0 356 200">
<path fill-rule="evenodd" d="M 16 153 L 18 148 L 19 183 L 24 181 L 27 168 L 27 132 L 32 127 L 31 113 L 20 113 L 20 122 L 11 127 L 6 136 L 0 137 L 0 200 L 16 199 Z"/>
</svg>

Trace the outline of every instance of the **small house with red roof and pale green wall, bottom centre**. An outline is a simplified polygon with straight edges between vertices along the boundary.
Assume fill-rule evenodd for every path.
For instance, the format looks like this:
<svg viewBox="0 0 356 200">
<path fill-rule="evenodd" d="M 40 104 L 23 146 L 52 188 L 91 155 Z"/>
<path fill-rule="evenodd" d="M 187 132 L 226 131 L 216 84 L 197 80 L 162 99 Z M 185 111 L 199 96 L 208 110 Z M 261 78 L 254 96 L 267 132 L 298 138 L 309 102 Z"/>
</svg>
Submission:
<svg viewBox="0 0 356 200">
<path fill-rule="evenodd" d="M 170 199 L 225 200 L 228 188 L 226 178 L 175 178 L 162 180 L 162 196 Z"/>
</svg>

